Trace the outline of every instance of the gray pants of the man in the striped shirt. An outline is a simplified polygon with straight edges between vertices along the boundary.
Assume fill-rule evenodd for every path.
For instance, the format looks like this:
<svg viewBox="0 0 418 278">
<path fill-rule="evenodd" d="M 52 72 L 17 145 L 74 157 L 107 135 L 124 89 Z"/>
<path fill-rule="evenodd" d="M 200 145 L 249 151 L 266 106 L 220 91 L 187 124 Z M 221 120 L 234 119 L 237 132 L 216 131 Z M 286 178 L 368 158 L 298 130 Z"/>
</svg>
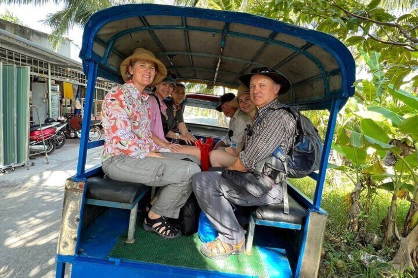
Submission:
<svg viewBox="0 0 418 278">
<path fill-rule="evenodd" d="M 232 204 L 248 206 L 276 205 L 283 200 L 281 185 L 256 198 L 231 183 L 219 183 L 222 172 L 203 172 L 193 177 L 193 191 L 202 211 L 218 231 L 222 242 L 237 244 L 244 239 L 244 230 L 232 210 Z M 284 181 L 285 182 L 285 181 Z"/>
</svg>

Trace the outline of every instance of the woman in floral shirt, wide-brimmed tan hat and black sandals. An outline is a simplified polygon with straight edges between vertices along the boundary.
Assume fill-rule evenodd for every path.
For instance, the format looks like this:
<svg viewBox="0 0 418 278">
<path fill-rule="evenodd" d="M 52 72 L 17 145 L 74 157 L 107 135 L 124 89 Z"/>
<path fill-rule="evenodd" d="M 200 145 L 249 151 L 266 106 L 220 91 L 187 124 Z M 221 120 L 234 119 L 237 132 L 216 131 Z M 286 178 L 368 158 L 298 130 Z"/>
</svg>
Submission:
<svg viewBox="0 0 418 278">
<path fill-rule="evenodd" d="M 113 87 L 102 104 L 104 151 L 102 169 L 110 179 L 164 186 L 145 216 L 143 228 L 164 239 L 180 236 L 167 217 L 178 218 L 189 197 L 192 176 L 200 172 L 196 163 L 180 159 L 187 154 L 159 153 L 152 140 L 148 98 L 145 87 L 167 75 L 164 64 L 146 49 L 137 48 L 120 65 L 123 85 Z"/>
</svg>

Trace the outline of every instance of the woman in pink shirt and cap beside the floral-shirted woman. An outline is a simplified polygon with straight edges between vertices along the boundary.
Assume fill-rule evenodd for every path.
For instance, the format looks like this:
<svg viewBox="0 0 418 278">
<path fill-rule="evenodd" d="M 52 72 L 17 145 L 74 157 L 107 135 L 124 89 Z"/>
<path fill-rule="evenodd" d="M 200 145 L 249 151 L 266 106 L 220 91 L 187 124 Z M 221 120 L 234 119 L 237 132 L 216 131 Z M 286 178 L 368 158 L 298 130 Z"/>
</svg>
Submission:
<svg viewBox="0 0 418 278">
<path fill-rule="evenodd" d="M 164 102 L 164 98 L 169 97 L 176 87 L 175 78 L 176 77 L 173 74 L 169 74 L 163 81 L 155 84 L 153 93 L 150 94 L 150 98 L 148 99 L 151 110 L 152 139 L 156 144 L 165 148 L 165 151 L 195 155 L 200 160 L 201 153 L 198 147 L 182 146 L 171 143 L 166 139 L 166 137 L 174 138 L 178 135 L 178 133 L 170 130 L 167 105 Z"/>
</svg>

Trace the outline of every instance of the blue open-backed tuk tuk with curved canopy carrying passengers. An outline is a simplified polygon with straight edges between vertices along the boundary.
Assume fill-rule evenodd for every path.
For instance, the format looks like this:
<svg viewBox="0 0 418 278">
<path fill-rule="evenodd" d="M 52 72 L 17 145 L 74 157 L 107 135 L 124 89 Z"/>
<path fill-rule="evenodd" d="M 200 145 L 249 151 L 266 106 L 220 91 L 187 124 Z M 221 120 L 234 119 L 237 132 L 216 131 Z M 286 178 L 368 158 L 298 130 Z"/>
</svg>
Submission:
<svg viewBox="0 0 418 278">
<path fill-rule="evenodd" d="M 158 236 L 144 233 L 139 225 L 140 208 L 151 190 L 105 180 L 100 164 L 86 169 L 87 151 L 104 144 L 88 140 L 96 78 L 123 84 L 120 63 L 137 47 L 152 51 L 177 75 L 177 82 L 208 87 L 236 89 L 240 75 L 268 66 L 291 82 L 280 102 L 302 111 L 329 111 L 320 167 L 310 175 L 316 182 L 313 200 L 289 183 L 290 213 L 271 209 L 266 212 L 270 216 L 252 215 L 247 234 L 254 240 L 247 253 L 209 260 L 200 254 L 196 235 L 153 238 Z M 129 4 L 90 17 L 80 58 L 88 77 L 85 112 L 77 173 L 65 186 L 56 277 L 64 277 L 66 264 L 71 264 L 71 277 L 317 276 L 327 219 L 321 197 L 328 155 L 337 113 L 354 93 L 355 64 L 343 43 L 326 33 L 251 14 Z M 214 109 L 217 97 L 194 95 L 184 105 Z M 223 127 L 186 124 L 198 138 L 226 133 Z"/>
</svg>

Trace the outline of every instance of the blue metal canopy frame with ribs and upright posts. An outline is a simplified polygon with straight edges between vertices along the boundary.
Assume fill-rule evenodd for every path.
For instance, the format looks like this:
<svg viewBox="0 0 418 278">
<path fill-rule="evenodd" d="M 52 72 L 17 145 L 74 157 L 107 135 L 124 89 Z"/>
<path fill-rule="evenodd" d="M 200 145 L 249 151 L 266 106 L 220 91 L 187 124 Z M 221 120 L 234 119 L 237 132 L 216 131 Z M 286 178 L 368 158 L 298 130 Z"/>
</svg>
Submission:
<svg viewBox="0 0 418 278">
<path fill-rule="evenodd" d="M 145 17 L 146 16 L 167 16 L 170 15 L 172 17 L 179 17 L 181 18 L 181 25 L 153 25 L 150 26 L 147 24 Z M 104 27 L 107 23 L 123 20 L 126 18 L 131 17 L 138 17 L 142 23 L 140 27 L 133 27 L 133 28 L 123 28 L 116 32 L 107 42 L 98 39 L 98 32 L 102 27 Z M 221 21 L 224 22 L 223 30 L 213 29 L 213 28 L 203 28 L 203 27 L 196 27 L 196 26 L 185 26 L 184 19 L 185 18 L 201 18 L 205 20 L 211 21 Z M 267 38 L 265 36 L 257 36 L 257 35 L 244 35 L 240 32 L 228 31 L 228 27 L 230 24 L 245 24 L 249 26 L 255 26 L 257 28 L 266 29 L 272 31 L 270 36 Z M 329 119 L 328 119 L 328 126 L 326 131 L 326 136 L 324 140 L 324 149 L 322 152 L 322 157 L 320 161 L 320 168 L 318 174 L 313 173 L 311 178 L 316 180 L 316 189 L 314 194 L 313 204 L 315 208 L 320 209 L 321 198 L 322 198 L 322 190 L 325 181 L 325 174 L 327 168 L 327 160 L 328 155 L 331 148 L 332 137 L 334 134 L 336 119 L 338 111 L 344 106 L 347 102 L 348 97 L 354 94 L 354 88 L 351 86 L 355 80 L 355 63 L 352 58 L 351 53 L 348 51 L 347 47 L 341 43 L 339 40 L 334 38 L 331 35 L 326 33 L 308 30 L 305 28 L 293 26 L 287 23 L 279 22 L 277 20 L 272 20 L 268 18 L 263 18 L 260 16 L 245 14 L 245 13 L 238 13 L 238 12 L 229 12 L 229 11 L 218 11 L 218 10 L 207 10 L 207 9 L 199 9 L 199 8 L 189 8 L 189 7 L 176 7 L 176 6 L 167 6 L 167 5 L 155 5 L 155 4 L 130 4 L 130 5 L 122 5 L 116 6 L 109 9 L 102 10 L 100 12 L 95 13 L 87 22 L 84 34 L 83 34 L 83 44 L 80 52 L 80 58 L 83 60 L 83 67 L 86 76 L 88 77 L 88 84 L 87 84 L 87 91 L 86 91 L 86 104 L 85 104 L 85 113 L 83 119 L 83 126 L 82 126 L 82 137 L 80 142 L 80 150 L 79 150 L 79 161 L 77 167 L 77 176 L 82 176 L 85 173 L 85 161 L 87 155 L 87 149 L 95 148 L 103 144 L 103 142 L 88 142 L 88 129 L 90 125 L 90 117 L 93 104 L 93 97 L 94 97 L 94 81 L 97 77 L 103 77 L 108 80 L 123 83 L 123 80 L 118 72 L 118 69 L 115 66 L 110 65 L 109 63 L 109 56 L 110 53 L 116 52 L 121 59 L 126 58 L 126 55 L 118 51 L 114 48 L 114 42 L 117 38 L 120 38 L 122 35 L 127 34 L 132 31 L 139 31 L 139 30 L 147 30 L 150 31 L 151 35 L 153 34 L 153 30 L 167 30 L 167 29 L 176 29 L 176 30 L 183 30 L 183 31 L 191 31 L 191 30 L 198 30 L 202 32 L 220 32 L 222 34 L 222 41 L 220 43 L 220 54 L 219 56 L 213 54 L 205 54 L 205 53 L 192 53 L 190 51 L 189 42 L 186 41 L 188 52 L 186 53 L 178 53 L 178 52 L 170 52 L 166 51 L 164 46 L 158 40 L 158 37 L 155 34 L 152 36 L 154 42 L 159 45 L 160 49 L 163 51 L 161 53 L 156 53 L 156 56 L 165 56 L 170 65 L 168 68 L 174 70 L 174 72 L 178 73 L 178 70 L 181 70 L 182 67 L 177 66 L 172 62 L 171 58 L 173 55 L 191 55 L 196 54 L 198 56 L 213 56 L 219 58 L 219 62 L 216 65 L 215 69 L 215 77 L 214 80 L 211 80 L 213 84 L 217 84 L 217 76 L 220 72 L 220 61 L 221 60 L 235 60 L 240 61 L 238 58 L 232 57 L 224 57 L 222 56 L 223 47 L 225 46 L 225 37 L 227 35 L 233 36 L 245 36 L 252 40 L 257 40 L 263 42 L 263 46 L 258 50 L 256 55 L 251 60 L 240 61 L 240 62 L 248 62 L 247 66 L 239 74 L 245 72 L 245 70 L 249 69 L 250 65 L 253 66 L 263 66 L 265 64 L 260 64 L 256 62 L 257 57 L 261 54 L 261 52 L 266 48 L 269 44 L 281 44 L 289 49 L 294 51 L 294 54 L 287 57 L 286 61 L 294 59 L 295 56 L 303 54 L 307 56 L 309 59 L 313 60 L 318 67 L 321 69 L 320 76 L 315 76 L 313 78 L 306 79 L 298 84 L 293 84 L 292 90 L 294 90 L 295 86 L 301 86 L 303 84 L 307 84 L 310 82 L 314 82 L 316 79 L 323 79 L 324 81 L 328 80 L 328 83 L 324 82 L 324 86 L 327 87 L 329 84 L 330 76 L 341 74 L 341 90 L 339 92 L 330 93 L 329 86 L 325 88 L 325 92 L 323 94 L 322 99 L 315 99 L 311 103 L 295 103 L 292 102 L 292 105 L 303 105 L 305 109 L 327 109 L 330 111 Z M 300 38 L 306 41 L 302 47 L 296 47 L 290 43 L 279 42 L 274 39 L 274 37 L 278 33 L 283 33 L 292 37 Z M 187 36 L 186 36 L 187 40 Z M 104 55 L 100 56 L 93 50 L 93 46 L 95 41 L 99 42 L 101 45 L 105 47 Z M 318 61 L 316 57 L 314 57 L 311 53 L 308 52 L 309 48 L 313 45 L 317 45 L 322 49 L 326 50 L 332 57 L 338 62 L 338 69 L 334 69 L 330 72 L 326 72 L 324 69 L 323 64 L 321 61 Z M 242 60 L 242 59 L 241 59 Z M 286 61 L 282 61 L 280 64 L 283 64 Z M 193 62 L 190 62 L 193 65 Z M 280 65 L 276 65 L 276 68 Z M 196 75 L 196 70 L 199 70 L 199 67 L 192 66 L 193 68 L 193 75 Z M 184 67 L 183 67 L 184 68 Z M 186 76 L 183 78 L 185 81 L 193 81 L 194 76 Z M 180 78 L 181 80 L 181 78 Z M 224 85 L 227 87 L 237 87 L 239 85 L 238 79 L 235 78 L 234 82 L 223 82 L 220 85 Z M 328 90 L 328 91 L 327 91 Z"/>
</svg>

